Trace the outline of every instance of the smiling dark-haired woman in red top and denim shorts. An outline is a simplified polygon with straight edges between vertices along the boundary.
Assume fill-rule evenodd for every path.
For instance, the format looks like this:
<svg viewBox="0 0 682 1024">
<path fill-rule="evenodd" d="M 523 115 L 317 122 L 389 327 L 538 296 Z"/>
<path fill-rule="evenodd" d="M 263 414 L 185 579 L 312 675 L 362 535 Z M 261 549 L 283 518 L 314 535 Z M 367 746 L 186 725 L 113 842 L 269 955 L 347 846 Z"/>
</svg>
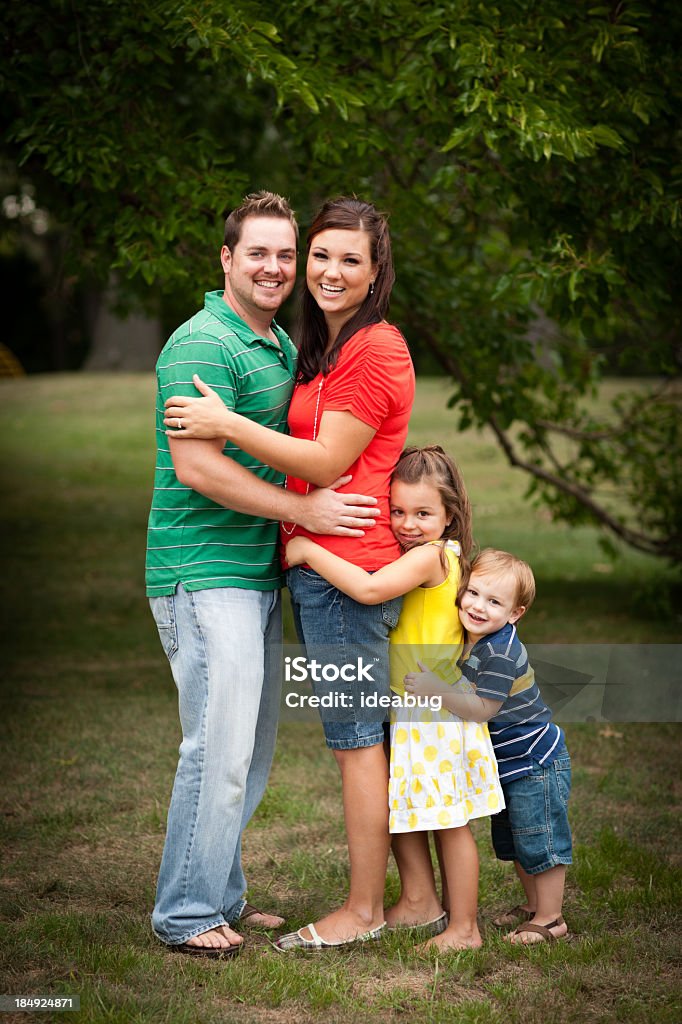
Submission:
<svg viewBox="0 0 682 1024">
<path fill-rule="evenodd" d="M 166 409 L 169 426 L 181 420 L 176 436 L 225 436 L 287 473 L 287 486 L 299 493 L 350 474 L 354 492 L 377 499 L 376 525 L 361 538 L 315 540 L 369 571 L 400 554 L 390 530 L 389 481 L 408 432 L 415 378 L 404 339 L 384 319 L 394 278 L 388 226 L 374 206 L 346 198 L 326 203 L 308 233 L 291 436 L 230 413 L 201 382 L 207 397 L 171 398 Z M 290 523 L 282 528 L 285 541 L 305 532 Z M 308 657 L 339 666 L 361 660 L 372 667 L 378 691 L 388 693 L 388 632 L 399 599 L 357 604 L 305 566 L 290 569 L 287 582 Z M 388 768 L 383 711 L 370 717 L 360 708 L 360 690 L 373 685 L 367 675 L 341 683 L 352 709 L 323 722 L 341 772 L 350 893 L 321 922 L 283 936 L 281 949 L 344 945 L 377 938 L 384 927 Z"/>
</svg>

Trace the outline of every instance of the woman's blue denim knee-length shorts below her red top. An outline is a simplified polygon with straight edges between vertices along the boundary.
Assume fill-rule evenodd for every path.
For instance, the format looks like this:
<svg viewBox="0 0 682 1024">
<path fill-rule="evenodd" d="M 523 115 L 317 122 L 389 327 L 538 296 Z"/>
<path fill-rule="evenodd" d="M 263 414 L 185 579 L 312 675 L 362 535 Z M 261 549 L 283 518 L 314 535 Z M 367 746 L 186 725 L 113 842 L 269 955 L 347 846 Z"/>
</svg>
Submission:
<svg viewBox="0 0 682 1024">
<path fill-rule="evenodd" d="M 334 701 L 321 708 L 327 745 L 350 751 L 384 741 L 388 698 L 388 634 L 397 625 L 402 598 L 358 604 L 312 569 L 287 572 L 294 622 L 305 646 L 328 678 L 311 678 L 315 696 Z M 319 675 L 319 670 L 317 672 Z"/>
</svg>

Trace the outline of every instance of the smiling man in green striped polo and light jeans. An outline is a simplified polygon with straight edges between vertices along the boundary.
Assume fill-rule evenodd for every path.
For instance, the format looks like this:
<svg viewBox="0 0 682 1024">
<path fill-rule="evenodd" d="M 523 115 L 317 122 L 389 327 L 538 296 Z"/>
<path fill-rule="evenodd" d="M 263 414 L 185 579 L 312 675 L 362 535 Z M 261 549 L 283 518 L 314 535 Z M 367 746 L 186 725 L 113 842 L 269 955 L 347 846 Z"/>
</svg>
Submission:
<svg viewBox="0 0 682 1024">
<path fill-rule="evenodd" d="M 257 193 L 225 222 L 224 292 L 172 335 L 157 365 L 158 460 L 147 595 L 178 688 L 182 743 L 152 924 L 170 947 L 227 956 L 250 907 L 241 838 L 269 772 L 280 703 L 279 520 L 359 536 L 372 499 L 288 493 L 284 476 L 224 439 L 168 437 L 164 400 L 196 394 L 194 373 L 238 413 L 284 431 L 296 351 L 273 321 L 296 276 L 298 229 L 285 200 Z"/>
</svg>

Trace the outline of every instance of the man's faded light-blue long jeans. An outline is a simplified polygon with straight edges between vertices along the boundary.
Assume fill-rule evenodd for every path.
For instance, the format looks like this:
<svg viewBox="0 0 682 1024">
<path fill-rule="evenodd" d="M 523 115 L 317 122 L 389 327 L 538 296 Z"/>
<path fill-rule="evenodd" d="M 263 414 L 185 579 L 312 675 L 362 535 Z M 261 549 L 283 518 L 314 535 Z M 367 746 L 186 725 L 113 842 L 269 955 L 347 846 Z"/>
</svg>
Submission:
<svg viewBox="0 0 682 1024">
<path fill-rule="evenodd" d="M 279 591 L 181 584 L 150 604 L 182 727 L 152 927 L 177 945 L 244 908 L 242 833 L 274 751 L 282 606 Z"/>
</svg>

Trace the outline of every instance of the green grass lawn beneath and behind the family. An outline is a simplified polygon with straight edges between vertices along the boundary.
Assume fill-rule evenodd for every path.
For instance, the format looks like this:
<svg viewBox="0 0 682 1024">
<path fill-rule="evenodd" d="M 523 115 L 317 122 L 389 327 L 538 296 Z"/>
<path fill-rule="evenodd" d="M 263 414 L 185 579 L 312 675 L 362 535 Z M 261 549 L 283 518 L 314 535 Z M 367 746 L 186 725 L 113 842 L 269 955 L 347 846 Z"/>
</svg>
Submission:
<svg viewBox="0 0 682 1024">
<path fill-rule="evenodd" d="M 148 913 L 179 727 L 142 590 L 154 466 L 151 375 L 2 382 L 2 992 L 78 994 L 79 1021 L 284 1024 L 678 1024 L 679 725 L 568 725 L 573 939 L 504 944 L 492 918 L 517 901 L 481 859 L 484 947 L 440 958 L 409 935 L 352 953 L 280 956 L 264 934 L 238 961 L 167 953 Z M 527 641 L 679 640 L 670 570 L 523 502 L 524 477 L 492 437 L 457 435 L 446 387 L 420 382 L 411 439 L 460 462 L 481 545 L 536 569 Z M 252 902 L 292 928 L 347 887 L 340 791 L 316 724 L 285 722 L 271 781 L 245 838 Z M 387 900 L 397 891 L 391 866 Z M 3 1021 L 25 1021 L 6 1014 Z M 69 1020 L 44 1014 L 41 1020 Z"/>
</svg>

